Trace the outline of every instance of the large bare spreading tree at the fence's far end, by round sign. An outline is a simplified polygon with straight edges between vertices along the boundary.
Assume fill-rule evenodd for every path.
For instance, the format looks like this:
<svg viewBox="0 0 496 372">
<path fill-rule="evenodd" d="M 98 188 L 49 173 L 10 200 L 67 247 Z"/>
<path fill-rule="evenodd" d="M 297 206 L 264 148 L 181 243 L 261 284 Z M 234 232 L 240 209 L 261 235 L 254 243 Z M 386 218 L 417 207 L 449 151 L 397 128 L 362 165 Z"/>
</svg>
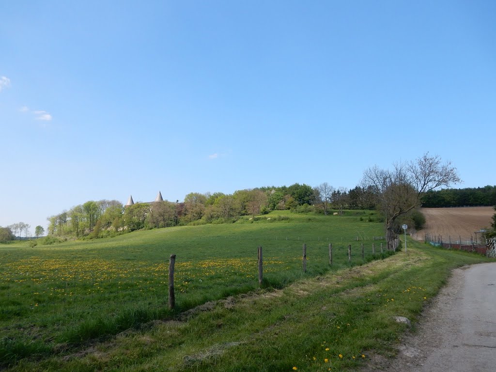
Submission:
<svg viewBox="0 0 496 372">
<path fill-rule="evenodd" d="M 419 207 L 424 193 L 459 183 L 460 178 L 451 162 L 441 164 L 439 156 L 426 153 L 416 161 L 394 164 L 393 170 L 373 166 L 365 170 L 362 182 L 372 187 L 386 219 L 386 240 L 392 242 L 396 238 L 394 222 L 399 216 Z"/>
</svg>

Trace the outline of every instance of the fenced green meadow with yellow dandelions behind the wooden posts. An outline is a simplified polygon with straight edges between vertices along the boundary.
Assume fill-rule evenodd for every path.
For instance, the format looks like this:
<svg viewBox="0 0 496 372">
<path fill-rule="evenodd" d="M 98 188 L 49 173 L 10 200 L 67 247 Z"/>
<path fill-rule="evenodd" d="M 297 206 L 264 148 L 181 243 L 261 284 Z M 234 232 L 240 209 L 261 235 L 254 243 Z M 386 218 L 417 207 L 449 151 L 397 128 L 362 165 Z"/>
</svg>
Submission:
<svg viewBox="0 0 496 372">
<path fill-rule="evenodd" d="M 353 264 L 361 264 L 361 243 L 367 247 L 365 261 L 373 258 L 372 243 L 380 251 L 380 243 L 371 240 L 382 235 L 382 224 L 375 221 L 370 211 L 344 216 L 277 212 L 256 221 L 243 218 L 228 225 L 157 229 L 57 246 L 1 245 L 0 364 L 43 360 L 208 301 L 254 291 L 257 246 L 263 247 L 265 288 L 285 288 L 349 267 L 349 244 Z M 329 243 L 334 246 L 332 267 Z M 167 309 L 172 253 L 177 254 L 175 311 Z"/>
</svg>

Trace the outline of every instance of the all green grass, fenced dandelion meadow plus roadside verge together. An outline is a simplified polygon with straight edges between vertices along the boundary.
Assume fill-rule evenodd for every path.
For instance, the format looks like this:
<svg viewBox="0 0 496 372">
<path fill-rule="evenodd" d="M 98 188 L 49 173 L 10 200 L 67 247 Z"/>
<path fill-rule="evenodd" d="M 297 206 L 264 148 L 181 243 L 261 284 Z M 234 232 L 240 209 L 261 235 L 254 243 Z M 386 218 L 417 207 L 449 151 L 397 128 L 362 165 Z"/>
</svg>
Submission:
<svg viewBox="0 0 496 372">
<path fill-rule="evenodd" d="M 394 354 L 405 326 L 393 316 L 415 322 L 453 267 L 487 261 L 410 240 L 408 254 L 381 254 L 373 237 L 382 231 L 370 211 L 276 212 L 57 246 L 2 245 L 0 363 L 9 371 L 357 369 L 374 353 Z"/>
</svg>

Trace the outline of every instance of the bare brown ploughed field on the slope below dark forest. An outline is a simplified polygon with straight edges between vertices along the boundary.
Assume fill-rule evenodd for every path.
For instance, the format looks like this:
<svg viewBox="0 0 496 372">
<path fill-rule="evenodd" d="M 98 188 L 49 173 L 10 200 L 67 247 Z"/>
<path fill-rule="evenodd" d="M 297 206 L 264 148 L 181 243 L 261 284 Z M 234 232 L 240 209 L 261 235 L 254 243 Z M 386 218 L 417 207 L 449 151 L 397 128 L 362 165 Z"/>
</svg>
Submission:
<svg viewBox="0 0 496 372">
<path fill-rule="evenodd" d="M 461 207 L 461 208 L 421 208 L 426 216 L 426 227 L 420 230 L 414 238 L 424 240 L 426 234 L 441 235 L 447 241 L 451 236 L 453 241 L 461 236 L 462 241 L 469 240 L 474 232 L 491 225 L 493 207 Z M 479 238 L 480 234 L 478 234 Z"/>
</svg>

